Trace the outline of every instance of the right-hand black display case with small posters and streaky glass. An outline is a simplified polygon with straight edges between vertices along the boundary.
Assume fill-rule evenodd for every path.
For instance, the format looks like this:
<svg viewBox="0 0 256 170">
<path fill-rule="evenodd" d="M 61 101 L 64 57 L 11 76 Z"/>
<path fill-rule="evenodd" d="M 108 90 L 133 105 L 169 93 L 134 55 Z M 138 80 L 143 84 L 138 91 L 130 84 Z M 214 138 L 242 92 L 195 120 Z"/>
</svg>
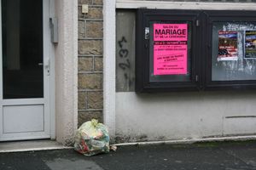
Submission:
<svg viewBox="0 0 256 170">
<path fill-rule="evenodd" d="M 205 88 L 255 88 L 256 20 L 250 11 L 206 11 Z"/>
</svg>

